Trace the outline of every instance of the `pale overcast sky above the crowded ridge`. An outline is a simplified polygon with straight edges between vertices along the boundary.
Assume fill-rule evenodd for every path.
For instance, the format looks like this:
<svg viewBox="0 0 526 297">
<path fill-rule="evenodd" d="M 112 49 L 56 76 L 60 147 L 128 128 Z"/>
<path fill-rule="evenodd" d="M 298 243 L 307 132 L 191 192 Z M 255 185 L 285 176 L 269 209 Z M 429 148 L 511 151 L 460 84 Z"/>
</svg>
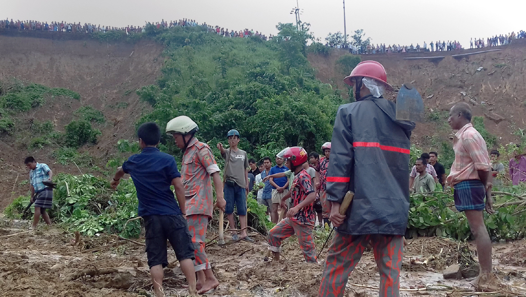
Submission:
<svg viewBox="0 0 526 297">
<path fill-rule="evenodd" d="M 317 38 L 343 32 L 341 0 L 298 0 L 302 22 Z M 276 25 L 296 22 L 296 0 L 2 0 L 2 18 L 62 21 L 105 26 L 144 25 L 161 19 L 196 19 L 234 30 L 276 34 Z M 373 44 L 410 45 L 459 40 L 469 48 L 472 37 L 526 30 L 524 0 L 373 0 L 346 1 L 347 34 L 363 29 Z M 325 43 L 325 41 L 323 41 Z"/>
</svg>

